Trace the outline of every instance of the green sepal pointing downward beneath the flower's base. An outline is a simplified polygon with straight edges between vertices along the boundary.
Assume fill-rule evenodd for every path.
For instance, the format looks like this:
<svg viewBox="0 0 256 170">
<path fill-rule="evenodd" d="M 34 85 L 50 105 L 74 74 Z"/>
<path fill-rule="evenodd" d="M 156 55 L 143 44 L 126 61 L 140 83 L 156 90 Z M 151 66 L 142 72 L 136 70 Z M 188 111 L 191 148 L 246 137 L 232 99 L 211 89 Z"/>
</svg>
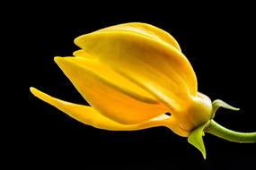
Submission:
<svg viewBox="0 0 256 170">
<path fill-rule="evenodd" d="M 195 129 L 193 132 L 191 132 L 188 137 L 189 143 L 200 150 L 204 159 L 207 158 L 207 153 L 206 153 L 203 136 L 205 135 L 204 129 L 207 127 L 207 125 L 209 123 L 210 123 L 210 121 L 200 125 L 197 129 Z"/>
</svg>

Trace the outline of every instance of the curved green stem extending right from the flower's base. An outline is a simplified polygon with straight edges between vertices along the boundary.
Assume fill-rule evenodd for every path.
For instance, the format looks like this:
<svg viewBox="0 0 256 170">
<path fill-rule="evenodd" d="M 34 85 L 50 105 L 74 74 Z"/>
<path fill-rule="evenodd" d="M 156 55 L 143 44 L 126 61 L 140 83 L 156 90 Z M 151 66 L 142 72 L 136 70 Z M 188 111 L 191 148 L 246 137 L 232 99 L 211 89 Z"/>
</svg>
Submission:
<svg viewBox="0 0 256 170">
<path fill-rule="evenodd" d="M 204 132 L 211 133 L 219 138 L 240 142 L 240 143 L 254 143 L 256 142 L 256 132 L 234 132 L 226 129 L 222 125 L 211 120 Z"/>
</svg>

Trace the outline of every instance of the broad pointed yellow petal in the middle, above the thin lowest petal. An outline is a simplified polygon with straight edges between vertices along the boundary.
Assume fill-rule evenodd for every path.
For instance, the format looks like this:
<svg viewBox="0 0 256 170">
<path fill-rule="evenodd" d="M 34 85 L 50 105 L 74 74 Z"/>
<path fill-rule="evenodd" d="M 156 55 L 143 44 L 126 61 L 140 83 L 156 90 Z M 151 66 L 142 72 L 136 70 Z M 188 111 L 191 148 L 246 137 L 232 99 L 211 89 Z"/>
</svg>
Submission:
<svg viewBox="0 0 256 170">
<path fill-rule="evenodd" d="M 116 122 L 142 123 L 169 111 L 144 89 L 98 61 L 82 57 L 55 57 L 55 61 L 84 99 Z"/>
</svg>

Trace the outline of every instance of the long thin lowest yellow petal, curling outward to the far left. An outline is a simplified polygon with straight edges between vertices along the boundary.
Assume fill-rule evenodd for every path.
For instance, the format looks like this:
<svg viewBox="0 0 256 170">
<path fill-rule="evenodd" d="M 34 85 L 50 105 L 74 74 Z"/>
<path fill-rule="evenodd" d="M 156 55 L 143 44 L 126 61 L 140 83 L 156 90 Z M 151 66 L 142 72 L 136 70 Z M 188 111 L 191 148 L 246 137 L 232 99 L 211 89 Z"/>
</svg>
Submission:
<svg viewBox="0 0 256 170">
<path fill-rule="evenodd" d="M 127 125 L 110 120 L 93 109 L 92 106 L 77 105 L 53 98 L 35 88 L 31 88 L 31 93 L 50 105 L 56 106 L 59 110 L 66 113 L 66 115 L 71 116 L 75 120 L 87 125 L 91 125 L 95 128 L 110 131 L 135 131 L 155 126 L 166 126 L 181 136 L 188 136 L 188 132 L 183 132 L 179 126 L 177 126 L 175 121 L 172 120 L 172 118 L 168 115 L 160 115 L 159 117 L 144 123 Z"/>
</svg>

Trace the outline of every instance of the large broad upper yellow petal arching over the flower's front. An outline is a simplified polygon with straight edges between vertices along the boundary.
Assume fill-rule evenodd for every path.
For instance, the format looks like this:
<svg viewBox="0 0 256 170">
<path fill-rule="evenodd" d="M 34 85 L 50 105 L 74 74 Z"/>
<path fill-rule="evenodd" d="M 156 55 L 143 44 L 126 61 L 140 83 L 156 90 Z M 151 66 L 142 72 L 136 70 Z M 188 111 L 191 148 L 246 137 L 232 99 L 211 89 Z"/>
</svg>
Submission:
<svg viewBox="0 0 256 170">
<path fill-rule="evenodd" d="M 172 110 L 189 104 L 197 79 L 188 59 L 163 41 L 129 31 L 93 32 L 75 44 L 146 89 Z"/>
</svg>

